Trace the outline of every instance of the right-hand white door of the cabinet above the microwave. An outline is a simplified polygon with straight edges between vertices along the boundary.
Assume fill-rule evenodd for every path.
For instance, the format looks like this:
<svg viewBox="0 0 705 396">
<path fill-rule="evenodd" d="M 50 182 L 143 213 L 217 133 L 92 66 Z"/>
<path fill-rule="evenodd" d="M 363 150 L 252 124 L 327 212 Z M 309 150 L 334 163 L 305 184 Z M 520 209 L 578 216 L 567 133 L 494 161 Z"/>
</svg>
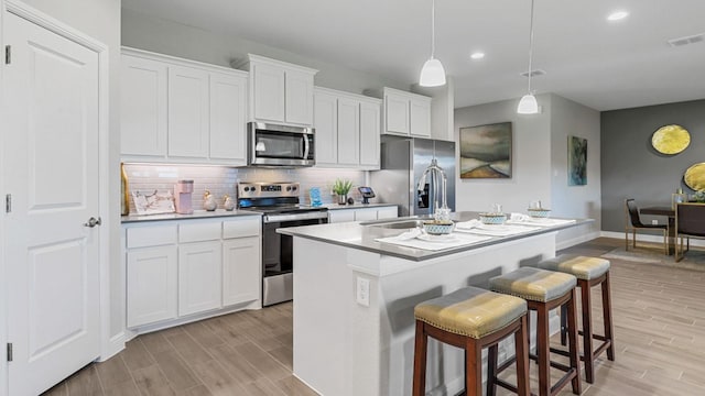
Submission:
<svg viewBox="0 0 705 396">
<path fill-rule="evenodd" d="M 313 124 L 313 76 L 307 73 L 286 70 L 285 108 L 286 122 Z"/>
</svg>

